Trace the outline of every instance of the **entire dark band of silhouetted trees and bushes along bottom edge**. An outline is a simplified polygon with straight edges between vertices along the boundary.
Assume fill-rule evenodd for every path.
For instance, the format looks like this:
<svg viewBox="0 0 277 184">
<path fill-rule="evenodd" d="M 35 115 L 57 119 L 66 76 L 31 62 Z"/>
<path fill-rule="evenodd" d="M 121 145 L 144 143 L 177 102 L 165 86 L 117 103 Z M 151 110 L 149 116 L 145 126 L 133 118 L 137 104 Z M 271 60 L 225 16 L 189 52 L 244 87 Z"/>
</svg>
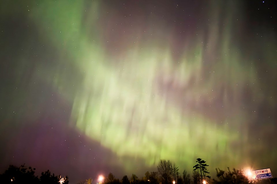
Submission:
<svg viewBox="0 0 277 184">
<path fill-rule="evenodd" d="M 196 165 L 193 166 L 192 176 L 184 170 L 179 173 L 179 167 L 169 160 L 160 160 L 157 171 L 145 173 L 141 179 L 132 174 L 130 180 L 125 175 L 121 180 L 116 179 L 112 173 L 101 181 L 93 181 L 91 178 L 79 181 L 77 184 L 277 184 L 277 178 L 253 180 L 253 176 L 247 175 L 243 170 L 227 169 L 227 171 L 216 169 L 216 179 L 211 179 L 208 175 L 208 167 L 201 158 L 196 159 Z M 42 172 L 41 176 L 35 176 L 35 168 L 26 168 L 24 165 L 16 167 L 10 165 L 3 174 L 0 175 L 0 183 L 3 184 L 68 184 L 68 176 L 51 174 L 49 170 Z"/>
</svg>

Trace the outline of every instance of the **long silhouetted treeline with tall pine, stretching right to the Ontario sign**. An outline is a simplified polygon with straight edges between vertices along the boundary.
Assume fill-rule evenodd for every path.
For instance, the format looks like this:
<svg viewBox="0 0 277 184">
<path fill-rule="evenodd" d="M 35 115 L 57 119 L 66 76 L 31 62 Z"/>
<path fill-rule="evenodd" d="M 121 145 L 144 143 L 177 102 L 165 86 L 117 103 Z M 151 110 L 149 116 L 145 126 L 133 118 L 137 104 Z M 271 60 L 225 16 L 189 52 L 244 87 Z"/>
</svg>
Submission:
<svg viewBox="0 0 277 184">
<path fill-rule="evenodd" d="M 132 174 L 130 180 L 127 175 L 121 180 L 116 179 L 112 173 L 103 179 L 96 181 L 99 184 L 277 184 L 277 179 L 254 180 L 253 175 L 247 175 L 244 170 L 227 168 L 227 171 L 216 168 L 216 179 L 212 179 L 208 174 L 209 165 L 201 158 L 196 159 L 196 165 L 192 168 L 192 176 L 186 170 L 179 173 L 179 167 L 170 160 L 160 160 L 157 171 L 145 173 L 142 179 Z M 80 181 L 78 184 L 92 184 L 92 179 Z"/>
</svg>

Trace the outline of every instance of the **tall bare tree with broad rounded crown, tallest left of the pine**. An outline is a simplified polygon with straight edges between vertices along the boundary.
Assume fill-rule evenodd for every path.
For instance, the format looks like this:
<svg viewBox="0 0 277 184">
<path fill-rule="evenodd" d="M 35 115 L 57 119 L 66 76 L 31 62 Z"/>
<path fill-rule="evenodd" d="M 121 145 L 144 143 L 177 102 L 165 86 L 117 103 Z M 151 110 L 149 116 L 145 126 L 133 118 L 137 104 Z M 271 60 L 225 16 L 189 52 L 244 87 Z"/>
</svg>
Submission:
<svg viewBox="0 0 277 184">
<path fill-rule="evenodd" d="M 164 181 L 164 184 L 169 184 L 171 180 L 171 162 L 169 160 L 160 160 L 158 173 Z"/>
</svg>

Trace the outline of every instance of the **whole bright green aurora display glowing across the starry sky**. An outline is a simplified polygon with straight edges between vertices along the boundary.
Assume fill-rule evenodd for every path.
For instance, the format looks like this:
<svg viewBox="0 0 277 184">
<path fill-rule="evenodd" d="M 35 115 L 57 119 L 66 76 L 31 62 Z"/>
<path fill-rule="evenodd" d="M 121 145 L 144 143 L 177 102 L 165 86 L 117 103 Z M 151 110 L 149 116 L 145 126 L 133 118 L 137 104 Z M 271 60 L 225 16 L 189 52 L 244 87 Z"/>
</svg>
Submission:
<svg viewBox="0 0 277 184">
<path fill-rule="evenodd" d="M 247 106 L 253 109 L 265 101 L 274 106 L 276 99 L 272 99 L 275 89 L 259 80 L 256 55 L 237 48 L 234 34 L 244 20 L 235 20 L 238 10 L 232 11 L 232 3 L 228 6 L 221 17 L 225 6 L 210 4 L 210 19 L 217 21 L 186 39 L 175 59 L 170 28 L 156 30 L 149 25 L 146 32 L 168 36 L 161 40 L 148 34 L 109 52 L 106 34 L 113 20 L 102 23 L 107 18 L 100 1 L 89 6 L 83 1 L 34 2 L 26 7 L 30 20 L 60 53 L 51 74 L 36 66 L 34 77 L 72 102 L 70 126 L 112 150 L 126 170 L 135 166 L 124 162 L 125 157 L 142 159 L 148 166 L 169 159 L 192 168 L 195 158 L 214 167 L 244 166 L 253 151 L 249 127 L 257 116 L 244 110 L 244 91 L 249 89 Z M 139 37 L 143 31 L 129 34 Z M 273 65 L 268 48 L 260 54 Z M 276 78 L 273 70 L 269 72 Z M 262 143 L 255 149 L 261 150 Z M 274 159 L 273 151 L 269 160 Z"/>
</svg>

